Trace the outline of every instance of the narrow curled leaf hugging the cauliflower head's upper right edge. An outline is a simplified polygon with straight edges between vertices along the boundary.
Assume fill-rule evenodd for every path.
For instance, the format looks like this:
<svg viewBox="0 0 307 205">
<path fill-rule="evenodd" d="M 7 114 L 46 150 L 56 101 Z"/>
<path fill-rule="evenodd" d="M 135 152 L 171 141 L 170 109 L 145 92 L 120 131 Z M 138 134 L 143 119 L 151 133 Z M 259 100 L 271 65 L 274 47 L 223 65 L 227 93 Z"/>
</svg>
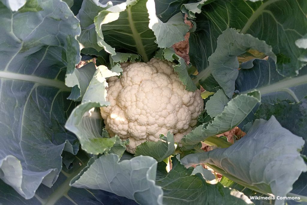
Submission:
<svg viewBox="0 0 307 205">
<path fill-rule="evenodd" d="M 173 67 L 175 72 L 178 74 L 180 81 L 186 86 L 186 90 L 195 91 L 197 89 L 188 74 L 188 65 L 183 58 L 178 56 L 173 49 L 164 49 L 163 58 L 168 61 L 176 60 L 178 62 L 178 64 Z"/>
</svg>

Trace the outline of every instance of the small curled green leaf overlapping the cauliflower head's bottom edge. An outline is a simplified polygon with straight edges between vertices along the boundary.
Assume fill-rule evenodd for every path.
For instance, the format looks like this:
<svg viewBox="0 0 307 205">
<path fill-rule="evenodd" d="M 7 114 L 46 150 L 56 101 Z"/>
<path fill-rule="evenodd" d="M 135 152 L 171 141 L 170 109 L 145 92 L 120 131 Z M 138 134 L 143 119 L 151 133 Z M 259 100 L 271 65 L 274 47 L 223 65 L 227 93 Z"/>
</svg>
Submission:
<svg viewBox="0 0 307 205">
<path fill-rule="evenodd" d="M 151 156 L 158 162 L 163 161 L 165 158 L 171 156 L 175 152 L 174 135 L 170 132 L 166 136 L 160 135 L 157 142 L 143 142 L 135 151 L 135 156 Z"/>
</svg>

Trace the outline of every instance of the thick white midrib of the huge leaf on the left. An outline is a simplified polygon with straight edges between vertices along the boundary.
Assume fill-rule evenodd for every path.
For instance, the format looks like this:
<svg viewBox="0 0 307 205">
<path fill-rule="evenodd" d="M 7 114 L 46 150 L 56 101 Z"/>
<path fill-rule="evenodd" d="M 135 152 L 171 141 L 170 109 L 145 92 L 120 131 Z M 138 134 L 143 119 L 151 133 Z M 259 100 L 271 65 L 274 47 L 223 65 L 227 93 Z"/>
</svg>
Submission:
<svg viewBox="0 0 307 205">
<path fill-rule="evenodd" d="M 7 78 L 12 80 L 29 81 L 40 85 L 55 87 L 61 91 L 71 91 L 71 88 L 67 87 L 64 82 L 56 79 L 47 79 L 43 77 L 37 77 L 33 75 L 10 73 L 5 71 L 0 71 L 0 78 Z"/>
</svg>

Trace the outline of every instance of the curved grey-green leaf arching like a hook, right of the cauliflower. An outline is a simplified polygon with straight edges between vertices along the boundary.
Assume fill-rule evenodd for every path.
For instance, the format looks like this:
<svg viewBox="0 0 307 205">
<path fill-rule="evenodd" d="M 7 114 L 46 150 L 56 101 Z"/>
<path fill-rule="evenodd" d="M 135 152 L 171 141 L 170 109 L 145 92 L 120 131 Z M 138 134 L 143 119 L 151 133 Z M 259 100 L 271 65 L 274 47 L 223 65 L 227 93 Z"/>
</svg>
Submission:
<svg viewBox="0 0 307 205">
<path fill-rule="evenodd" d="M 253 48 L 265 53 L 276 61 L 272 47 L 249 34 L 239 34 L 234 29 L 226 29 L 217 38 L 215 52 L 208 58 L 209 66 L 215 80 L 231 98 L 235 91 L 235 80 L 239 73 L 237 56 Z"/>
</svg>

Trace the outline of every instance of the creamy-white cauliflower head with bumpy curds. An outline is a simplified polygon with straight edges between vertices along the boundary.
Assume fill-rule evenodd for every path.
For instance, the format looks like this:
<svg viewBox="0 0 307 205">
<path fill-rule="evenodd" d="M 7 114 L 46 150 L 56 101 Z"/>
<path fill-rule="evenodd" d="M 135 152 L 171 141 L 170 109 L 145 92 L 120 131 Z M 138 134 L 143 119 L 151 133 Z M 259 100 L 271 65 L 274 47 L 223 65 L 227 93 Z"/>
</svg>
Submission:
<svg viewBox="0 0 307 205">
<path fill-rule="evenodd" d="M 108 79 L 107 101 L 101 116 L 111 136 L 129 139 L 134 153 L 145 141 L 174 133 L 175 142 L 191 131 L 204 109 L 200 90 L 187 91 L 173 71 L 173 64 L 153 58 L 146 63 L 126 63 L 121 78 Z"/>
</svg>

